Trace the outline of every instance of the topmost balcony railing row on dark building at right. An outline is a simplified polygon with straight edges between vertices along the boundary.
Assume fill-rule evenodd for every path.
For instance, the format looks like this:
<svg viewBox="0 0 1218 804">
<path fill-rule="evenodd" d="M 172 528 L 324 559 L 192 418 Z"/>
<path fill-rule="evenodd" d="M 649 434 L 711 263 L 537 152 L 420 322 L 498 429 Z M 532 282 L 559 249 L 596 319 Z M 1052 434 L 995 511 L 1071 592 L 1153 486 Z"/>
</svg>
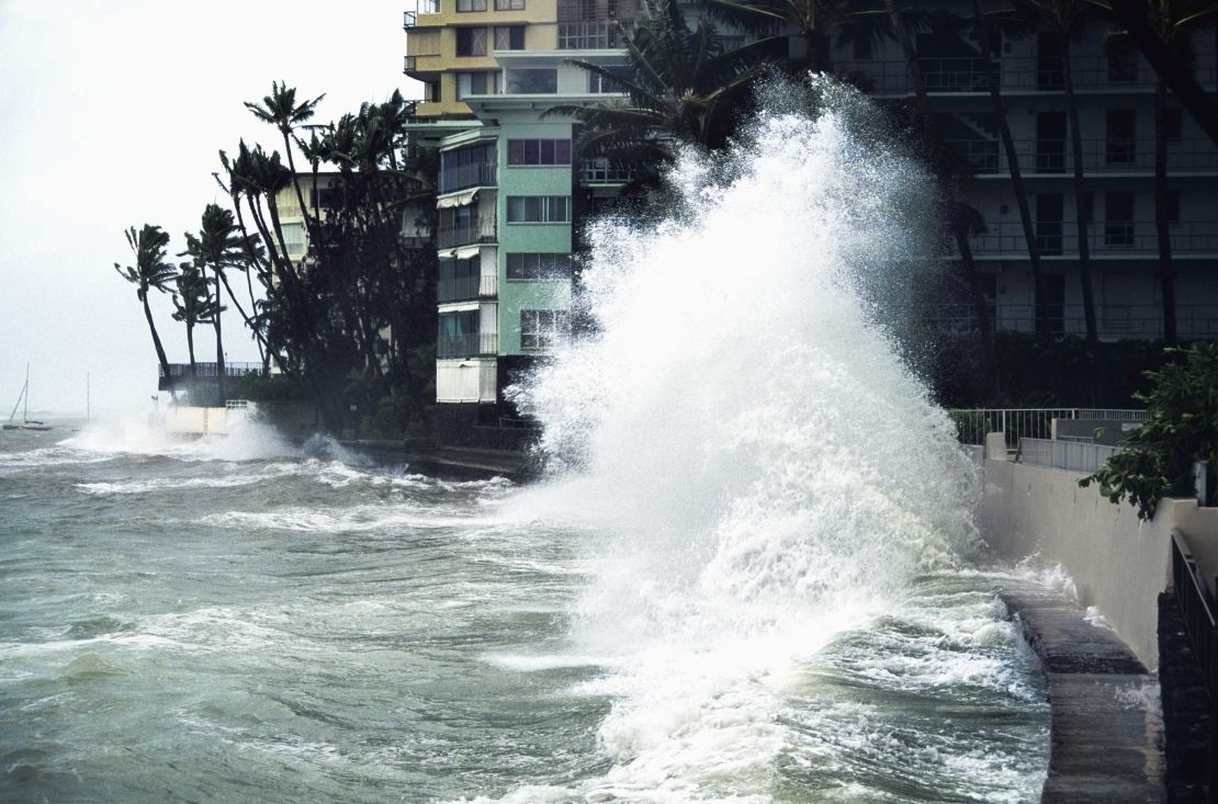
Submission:
<svg viewBox="0 0 1218 804">
<path fill-rule="evenodd" d="M 1060 66 L 1052 60 L 1034 56 L 1002 56 L 996 58 L 999 86 L 1004 91 L 1061 93 Z M 974 56 L 920 57 L 927 91 L 931 93 L 985 93 L 988 83 L 982 60 Z M 1129 88 L 1150 90 L 1158 76 L 1140 56 L 1133 65 L 1114 68 L 1107 56 L 1077 56 L 1071 58 L 1071 77 L 1074 89 Z M 914 93 L 904 58 L 837 60 L 839 73 L 855 73 L 865 79 L 870 91 L 883 95 Z M 1214 89 L 1216 68 L 1211 63 L 1199 63 L 1194 71 L 1197 82 L 1206 89 Z"/>
</svg>

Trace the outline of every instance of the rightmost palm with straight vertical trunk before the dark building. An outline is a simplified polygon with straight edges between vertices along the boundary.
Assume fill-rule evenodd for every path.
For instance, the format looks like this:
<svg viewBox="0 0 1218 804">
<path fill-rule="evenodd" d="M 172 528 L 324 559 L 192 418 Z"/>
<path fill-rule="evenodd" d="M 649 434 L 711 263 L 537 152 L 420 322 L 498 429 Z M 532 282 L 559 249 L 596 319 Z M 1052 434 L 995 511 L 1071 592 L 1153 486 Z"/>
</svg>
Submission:
<svg viewBox="0 0 1218 804">
<path fill-rule="evenodd" d="M 1097 6 L 1108 12 L 1113 6 Z M 1156 0 L 1142 10 L 1140 18 L 1133 19 L 1140 33 L 1134 30 L 1114 32 L 1108 44 L 1114 48 L 1141 46 L 1140 38 L 1150 35 L 1160 46 L 1175 54 L 1178 66 L 1191 72 L 1192 48 L 1190 34 L 1194 29 L 1208 26 L 1218 15 L 1218 4 L 1213 0 Z M 1122 21 L 1125 15 L 1122 15 Z M 1175 318 L 1175 270 L 1172 266 L 1172 231 L 1168 219 L 1167 191 L 1167 79 L 1160 72 L 1155 83 L 1155 235 L 1158 240 L 1160 290 L 1163 295 L 1163 340 L 1174 344 L 1178 336 Z"/>
</svg>

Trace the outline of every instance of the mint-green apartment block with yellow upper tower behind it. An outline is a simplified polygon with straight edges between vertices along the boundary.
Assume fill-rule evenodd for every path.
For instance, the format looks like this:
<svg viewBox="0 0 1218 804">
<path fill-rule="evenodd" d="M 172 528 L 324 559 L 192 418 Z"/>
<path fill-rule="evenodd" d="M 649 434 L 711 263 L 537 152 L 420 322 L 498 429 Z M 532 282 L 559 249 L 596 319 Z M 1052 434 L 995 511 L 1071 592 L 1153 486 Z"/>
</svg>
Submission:
<svg viewBox="0 0 1218 804">
<path fill-rule="evenodd" d="M 570 333 L 572 233 L 625 184 L 581 163 L 575 124 L 604 97 L 569 61 L 624 63 L 633 0 L 438 0 L 406 12 L 406 73 L 424 83 L 412 136 L 438 147 L 436 400 L 453 441 L 512 424 L 503 391 Z"/>
</svg>

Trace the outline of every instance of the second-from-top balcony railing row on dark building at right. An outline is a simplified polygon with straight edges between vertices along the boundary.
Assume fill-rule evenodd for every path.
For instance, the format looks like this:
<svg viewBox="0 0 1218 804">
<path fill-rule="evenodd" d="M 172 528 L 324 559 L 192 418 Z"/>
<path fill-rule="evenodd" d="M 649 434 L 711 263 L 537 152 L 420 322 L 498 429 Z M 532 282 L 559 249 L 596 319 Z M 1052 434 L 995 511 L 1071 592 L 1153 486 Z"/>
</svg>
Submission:
<svg viewBox="0 0 1218 804">
<path fill-rule="evenodd" d="M 979 175 L 1009 173 L 1006 151 L 999 140 L 948 140 L 961 158 Z M 1074 149 L 1068 139 L 1015 140 L 1016 158 L 1024 173 L 1071 173 Z M 1152 139 L 1084 139 L 1083 169 L 1086 173 L 1151 173 L 1155 171 Z M 1167 144 L 1167 169 L 1218 171 L 1218 149 L 1209 140 L 1190 138 Z"/>
</svg>

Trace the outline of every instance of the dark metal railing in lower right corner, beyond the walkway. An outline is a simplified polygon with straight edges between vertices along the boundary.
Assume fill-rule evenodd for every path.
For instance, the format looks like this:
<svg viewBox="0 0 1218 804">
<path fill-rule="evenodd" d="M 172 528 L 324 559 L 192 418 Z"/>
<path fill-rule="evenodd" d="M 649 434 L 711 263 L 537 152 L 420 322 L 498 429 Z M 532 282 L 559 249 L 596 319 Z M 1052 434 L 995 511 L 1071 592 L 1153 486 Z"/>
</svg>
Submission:
<svg viewBox="0 0 1218 804">
<path fill-rule="evenodd" d="M 1180 531 L 1172 531 L 1172 587 L 1184 615 L 1184 630 L 1209 691 L 1209 802 L 1218 802 L 1218 620 L 1214 601 Z"/>
</svg>

